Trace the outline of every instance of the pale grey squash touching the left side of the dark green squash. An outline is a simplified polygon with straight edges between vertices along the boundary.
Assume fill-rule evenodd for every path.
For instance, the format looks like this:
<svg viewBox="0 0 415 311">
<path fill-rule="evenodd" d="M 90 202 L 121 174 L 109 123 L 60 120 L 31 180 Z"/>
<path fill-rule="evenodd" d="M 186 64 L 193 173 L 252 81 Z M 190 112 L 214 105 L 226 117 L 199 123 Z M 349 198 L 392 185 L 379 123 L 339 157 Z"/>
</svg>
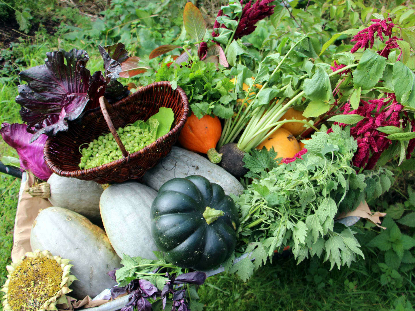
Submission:
<svg viewBox="0 0 415 311">
<path fill-rule="evenodd" d="M 151 236 L 151 204 L 157 192 L 137 181 L 113 184 L 100 199 L 101 218 L 111 245 L 123 254 L 156 259 Z"/>
</svg>

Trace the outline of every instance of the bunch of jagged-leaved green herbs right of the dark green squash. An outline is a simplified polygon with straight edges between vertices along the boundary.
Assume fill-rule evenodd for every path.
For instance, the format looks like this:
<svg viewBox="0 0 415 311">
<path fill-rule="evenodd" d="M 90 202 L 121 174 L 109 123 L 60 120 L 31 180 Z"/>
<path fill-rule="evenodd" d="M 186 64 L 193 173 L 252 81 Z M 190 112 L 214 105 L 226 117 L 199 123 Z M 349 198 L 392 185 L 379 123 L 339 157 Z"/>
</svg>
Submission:
<svg viewBox="0 0 415 311">
<path fill-rule="evenodd" d="M 275 250 L 286 245 L 291 246 L 298 262 L 309 255 L 323 255 L 324 261 L 330 261 L 330 269 L 350 266 L 356 255 L 364 258 L 356 232 L 335 224 L 334 218 L 339 212 L 355 209 L 361 200 L 388 190 L 393 177 L 388 170 L 357 174 L 351 164 L 357 143 L 350 137 L 350 128 L 333 126 L 332 130 L 313 135 L 305 145 L 308 152 L 290 164 L 266 160 L 275 158 L 275 152 L 264 156 L 265 149 L 244 158 L 250 170 L 247 176 L 254 179 L 235 198 L 241 211 L 239 235 L 245 243 L 239 249 L 252 253 L 232 266 L 231 272 L 247 279 L 267 258 L 272 260 Z M 378 185 L 366 192 L 365 180 Z M 380 192 L 373 191 L 379 187 Z M 351 195 L 351 204 L 342 206 Z"/>
</svg>

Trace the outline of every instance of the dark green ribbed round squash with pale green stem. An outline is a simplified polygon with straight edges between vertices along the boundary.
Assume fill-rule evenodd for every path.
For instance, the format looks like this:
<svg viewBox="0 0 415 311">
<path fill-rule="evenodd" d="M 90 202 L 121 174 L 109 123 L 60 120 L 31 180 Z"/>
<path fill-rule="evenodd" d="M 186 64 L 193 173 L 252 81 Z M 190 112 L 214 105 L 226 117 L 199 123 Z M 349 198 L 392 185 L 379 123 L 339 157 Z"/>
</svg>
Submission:
<svg viewBox="0 0 415 311">
<path fill-rule="evenodd" d="M 209 270 L 224 262 L 236 245 L 235 203 L 205 177 L 173 178 L 151 205 L 151 234 L 170 262 Z"/>
</svg>

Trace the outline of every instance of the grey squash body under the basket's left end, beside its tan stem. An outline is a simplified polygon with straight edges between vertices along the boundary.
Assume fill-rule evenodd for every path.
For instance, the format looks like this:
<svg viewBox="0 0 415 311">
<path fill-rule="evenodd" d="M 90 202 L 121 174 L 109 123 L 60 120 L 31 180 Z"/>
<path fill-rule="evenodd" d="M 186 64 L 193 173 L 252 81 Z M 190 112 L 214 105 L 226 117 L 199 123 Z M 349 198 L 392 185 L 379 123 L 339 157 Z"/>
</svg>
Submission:
<svg viewBox="0 0 415 311">
<path fill-rule="evenodd" d="M 93 180 L 62 177 L 52 174 L 48 179 L 49 201 L 53 206 L 70 209 L 100 224 L 100 196 L 103 188 Z"/>
</svg>

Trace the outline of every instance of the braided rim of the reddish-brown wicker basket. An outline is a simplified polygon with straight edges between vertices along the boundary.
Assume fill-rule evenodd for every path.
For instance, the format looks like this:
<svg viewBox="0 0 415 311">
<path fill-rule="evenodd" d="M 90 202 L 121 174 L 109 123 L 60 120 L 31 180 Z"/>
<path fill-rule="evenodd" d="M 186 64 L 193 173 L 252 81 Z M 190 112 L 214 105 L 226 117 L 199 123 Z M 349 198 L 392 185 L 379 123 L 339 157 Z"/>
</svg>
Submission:
<svg viewBox="0 0 415 311">
<path fill-rule="evenodd" d="M 136 92 L 128 95 L 127 97 L 115 102 L 114 104 L 112 104 L 112 107 L 114 109 L 117 109 L 118 107 L 120 107 L 120 105 L 124 104 L 125 102 L 129 101 L 132 98 L 137 97 L 140 93 L 146 92 L 147 90 L 149 90 L 153 87 L 160 87 L 160 86 L 171 87 L 171 83 L 169 81 L 159 81 L 159 82 L 150 83 L 149 85 L 146 85 L 146 86 L 140 88 L 139 90 L 137 90 Z M 170 131 L 168 131 L 167 134 L 164 134 L 163 136 L 157 138 L 155 141 L 153 141 L 149 145 L 145 146 L 141 150 L 139 150 L 137 152 L 134 152 L 134 153 L 129 153 L 129 161 L 128 162 L 131 162 L 132 160 L 134 160 L 136 158 L 139 158 L 142 155 L 145 155 L 147 153 L 147 151 L 149 151 L 149 149 L 151 149 L 151 147 L 156 145 L 157 142 L 164 141 L 166 138 L 168 138 L 169 136 L 172 135 L 173 131 L 178 131 L 179 129 L 183 128 L 184 124 L 186 123 L 187 116 L 189 114 L 189 100 L 187 98 L 186 92 L 180 86 L 177 86 L 176 90 L 174 90 L 174 91 L 179 93 L 180 97 L 182 98 L 182 104 L 183 104 L 183 114 L 180 116 L 180 119 L 178 120 L 177 124 Z M 100 110 L 100 107 L 91 109 L 85 115 L 98 114 L 98 113 L 102 113 L 101 110 Z M 85 117 L 85 115 L 84 115 L 84 117 Z M 108 129 L 108 131 L 109 131 L 109 129 Z M 50 143 L 51 143 L 51 141 L 54 137 L 55 136 L 50 136 L 46 139 L 46 143 L 45 143 L 45 146 L 44 146 L 44 149 L 43 149 L 43 153 L 44 153 L 44 159 L 45 159 L 46 165 L 55 174 L 57 174 L 57 172 L 59 171 L 58 175 L 65 176 L 65 177 L 73 177 L 72 175 L 77 175 L 78 177 L 86 177 L 86 176 L 93 175 L 100 168 L 113 169 L 113 168 L 118 167 L 122 163 L 127 163 L 127 162 L 124 161 L 124 159 L 121 158 L 121 159 L 118 159 L 118 160 L 115 160 L 115 161 L 111 161 L 110 163 L 107 163 L 107 164 L 102 164 L 102 165 L 96 166 L 95 168 L 88 168 L 86 170 L 62 170 L 62 169 L 58 168 L 58 166 L 49 158 L 49 145 L 50 145 Z"/>
</svg>

